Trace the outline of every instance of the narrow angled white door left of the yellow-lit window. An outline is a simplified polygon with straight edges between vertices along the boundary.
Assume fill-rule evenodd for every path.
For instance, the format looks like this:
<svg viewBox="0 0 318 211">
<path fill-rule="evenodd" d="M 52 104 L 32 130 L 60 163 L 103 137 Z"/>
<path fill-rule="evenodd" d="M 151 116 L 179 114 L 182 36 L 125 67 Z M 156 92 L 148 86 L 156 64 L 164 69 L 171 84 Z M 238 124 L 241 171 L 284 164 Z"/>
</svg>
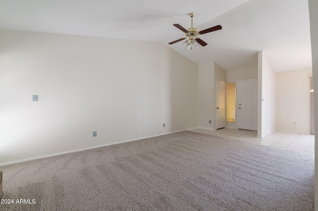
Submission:
<svg viewBox="0 0 318 211">
<path fill-rule="evenodd" d="M 216 83 L 216 129 L 225 127 L 225 83 Z"/>
</svg>

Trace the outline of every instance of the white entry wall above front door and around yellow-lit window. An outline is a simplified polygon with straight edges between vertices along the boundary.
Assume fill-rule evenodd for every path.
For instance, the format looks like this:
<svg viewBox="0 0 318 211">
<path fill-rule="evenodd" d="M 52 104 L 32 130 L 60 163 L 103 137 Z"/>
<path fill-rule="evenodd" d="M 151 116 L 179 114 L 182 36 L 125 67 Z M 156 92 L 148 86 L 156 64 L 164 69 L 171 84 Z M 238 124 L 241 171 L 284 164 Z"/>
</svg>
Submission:
<svg viewBox="0 0 318 211">
<path fill-rule="evenodd" d="M 238 81 L 254 80 L 257 79 L 257 66 L 239 68 L 226 71 L 226 82 L 237 83 Z M 236 106 L 238 107 L 238 106 Z M 236 122 L 227 122 L 227 127 L 238 128 L 238 112 L 236 112 Z"/>
</svg>

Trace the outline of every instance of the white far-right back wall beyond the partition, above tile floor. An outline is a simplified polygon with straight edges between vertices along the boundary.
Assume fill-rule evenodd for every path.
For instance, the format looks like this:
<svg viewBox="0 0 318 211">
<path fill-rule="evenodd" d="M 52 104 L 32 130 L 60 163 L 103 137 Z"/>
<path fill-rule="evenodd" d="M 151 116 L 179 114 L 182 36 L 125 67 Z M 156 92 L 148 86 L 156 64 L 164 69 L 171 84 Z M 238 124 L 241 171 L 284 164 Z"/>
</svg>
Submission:
<svg viewBox="0 0 318 211">
<path fill-rule="evenodd" d="M 277 129 L 310 133 L 310 74 L 312 68 L 276 73 Z"/>
</svg>

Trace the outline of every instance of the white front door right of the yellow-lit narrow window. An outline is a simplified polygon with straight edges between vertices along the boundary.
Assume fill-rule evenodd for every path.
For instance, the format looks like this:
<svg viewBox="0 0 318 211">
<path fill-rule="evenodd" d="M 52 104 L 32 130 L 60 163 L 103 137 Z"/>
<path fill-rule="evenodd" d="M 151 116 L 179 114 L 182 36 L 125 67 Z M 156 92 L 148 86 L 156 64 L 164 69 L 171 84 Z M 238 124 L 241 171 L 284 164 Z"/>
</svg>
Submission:
<svg viewBox="0 0 318 211">
<path fill-rule="evenodd" d="M 238 127 L 257 130 L 257 80 L 238 81 Z"/>
</svg>

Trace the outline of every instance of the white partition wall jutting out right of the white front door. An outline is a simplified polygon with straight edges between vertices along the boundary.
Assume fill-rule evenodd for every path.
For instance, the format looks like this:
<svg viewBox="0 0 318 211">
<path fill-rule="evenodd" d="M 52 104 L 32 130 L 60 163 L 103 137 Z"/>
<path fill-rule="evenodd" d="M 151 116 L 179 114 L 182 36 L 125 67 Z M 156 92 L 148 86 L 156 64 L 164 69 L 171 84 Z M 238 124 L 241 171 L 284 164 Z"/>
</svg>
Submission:
<svg viewBox="0 0 318 211">
<path fill-rule="evenodd" d="M 264 52 L 258 53 L 257 136 L 276 130 L 276 72 Z"/>
</svg>

